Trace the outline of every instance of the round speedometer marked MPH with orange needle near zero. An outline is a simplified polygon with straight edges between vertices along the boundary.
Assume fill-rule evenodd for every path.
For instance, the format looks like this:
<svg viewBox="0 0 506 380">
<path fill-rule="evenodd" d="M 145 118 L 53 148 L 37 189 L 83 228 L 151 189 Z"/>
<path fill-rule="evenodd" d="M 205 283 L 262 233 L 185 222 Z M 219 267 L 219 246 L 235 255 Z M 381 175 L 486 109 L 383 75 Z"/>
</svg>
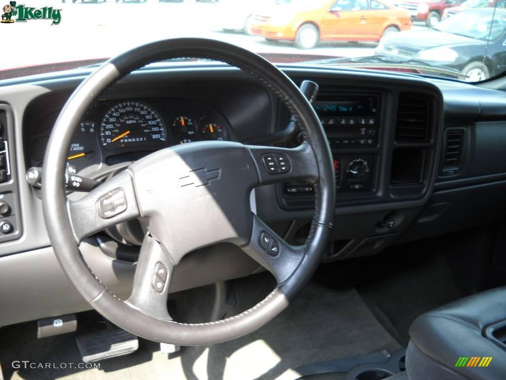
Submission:
<svg viewBox="0 0 506 380">
<path fill-rule="evenodd" d="M 100 139 L 106 149 L 160 145 L 165 141 L 165 126 L 150 106 L 137 101 L 122 102 L 105 114 Z"/>
</svg>

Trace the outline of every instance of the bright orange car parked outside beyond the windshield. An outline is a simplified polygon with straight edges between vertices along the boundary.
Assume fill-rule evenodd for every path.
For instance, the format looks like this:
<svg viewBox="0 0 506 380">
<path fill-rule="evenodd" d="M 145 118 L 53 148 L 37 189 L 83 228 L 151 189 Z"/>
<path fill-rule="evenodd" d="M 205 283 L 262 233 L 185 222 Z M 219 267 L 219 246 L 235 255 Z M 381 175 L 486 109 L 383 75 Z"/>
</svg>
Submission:
<svg viewBox="0 0 506 380">
<path fill-rule="evenodd" d="M 252 34 L 269 41 L 294 41 L 300 49 L 320 41 L 379 41 L 411 28 L 411 16 L 385 0 L 281 0 L 257 14 Z"/>
</svg>

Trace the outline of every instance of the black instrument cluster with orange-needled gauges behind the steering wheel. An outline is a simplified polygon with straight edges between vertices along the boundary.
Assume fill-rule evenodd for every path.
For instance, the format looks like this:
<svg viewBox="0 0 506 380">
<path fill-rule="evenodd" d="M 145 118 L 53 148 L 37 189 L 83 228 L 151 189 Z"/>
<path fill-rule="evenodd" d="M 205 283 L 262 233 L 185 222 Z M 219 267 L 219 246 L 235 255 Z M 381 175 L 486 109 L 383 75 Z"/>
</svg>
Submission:
<svg viewBox="0 0 506 380">
<path fill-rule="evenodd" d="M 174 99 L 100 101 L 79 124 L 68 164 L 79 171 L 135 161 L 177 144 L 231 139 L 228 121 L 205 104 Z"/>
</svg>

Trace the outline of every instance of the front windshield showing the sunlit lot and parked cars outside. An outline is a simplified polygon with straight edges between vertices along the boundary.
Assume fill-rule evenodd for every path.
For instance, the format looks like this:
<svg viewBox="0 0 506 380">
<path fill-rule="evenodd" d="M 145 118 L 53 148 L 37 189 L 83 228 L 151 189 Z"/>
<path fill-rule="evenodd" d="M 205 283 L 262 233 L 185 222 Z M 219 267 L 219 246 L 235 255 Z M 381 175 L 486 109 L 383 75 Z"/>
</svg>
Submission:
<svg viewBox="0 0 506 380">
<path fill-rule="evenodd" d="M 505 1 L 3 0 L 0 79 L 97 64 L 156 40 L 206 37 L 285 65 L 477 82 L 506 69 Z"/>
</svg>

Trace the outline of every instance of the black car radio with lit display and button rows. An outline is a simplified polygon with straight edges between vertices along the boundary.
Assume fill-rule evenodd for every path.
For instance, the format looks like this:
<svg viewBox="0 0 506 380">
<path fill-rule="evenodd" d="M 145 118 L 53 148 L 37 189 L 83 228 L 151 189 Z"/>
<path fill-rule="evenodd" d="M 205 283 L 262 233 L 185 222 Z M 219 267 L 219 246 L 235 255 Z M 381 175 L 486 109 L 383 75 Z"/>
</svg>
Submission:
<svg viewBox="0 0 506 380">
<path fill-rule="evenodd" d="M 331 147 L 377 144 L 377 98 L 343 96 L 319 100 L 313 107 L 320 118 Z"/>
</svg>

